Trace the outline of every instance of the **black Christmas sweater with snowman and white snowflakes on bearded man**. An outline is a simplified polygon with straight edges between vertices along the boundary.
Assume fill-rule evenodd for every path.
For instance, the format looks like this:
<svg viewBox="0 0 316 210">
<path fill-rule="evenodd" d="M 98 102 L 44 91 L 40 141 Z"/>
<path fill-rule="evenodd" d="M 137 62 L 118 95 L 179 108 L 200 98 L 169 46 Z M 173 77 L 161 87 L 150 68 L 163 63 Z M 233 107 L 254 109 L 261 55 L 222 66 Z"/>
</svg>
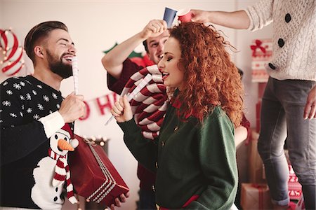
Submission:
<svg viewBox="0 0 316 210">
<path fill-rule="evenodd" d="M 54 138 L 66 138 L 69 142 L 73 125 L 69 123 L 71 129 L 59 130 L 47 138 L 39 119 L 60 109 L 62 93 L 33 76 L 25 76 L 5 80 L 0 85 L 0 94 L 0 206 L 60 209 L 64 202 L 62 188 L 70 179 L 64 175 L 56 176 L 55 165 L 62 165 L 61 170 L 65 174 L 68 151 L 56 149 Z M 48 154 L 48 151 L 51 153 Z M 54 182 L 56 186 L 53 186 L 54 177 L 61 178 Z M 72 186 L 67 191 L 71 192 Z"/>
</svg>

